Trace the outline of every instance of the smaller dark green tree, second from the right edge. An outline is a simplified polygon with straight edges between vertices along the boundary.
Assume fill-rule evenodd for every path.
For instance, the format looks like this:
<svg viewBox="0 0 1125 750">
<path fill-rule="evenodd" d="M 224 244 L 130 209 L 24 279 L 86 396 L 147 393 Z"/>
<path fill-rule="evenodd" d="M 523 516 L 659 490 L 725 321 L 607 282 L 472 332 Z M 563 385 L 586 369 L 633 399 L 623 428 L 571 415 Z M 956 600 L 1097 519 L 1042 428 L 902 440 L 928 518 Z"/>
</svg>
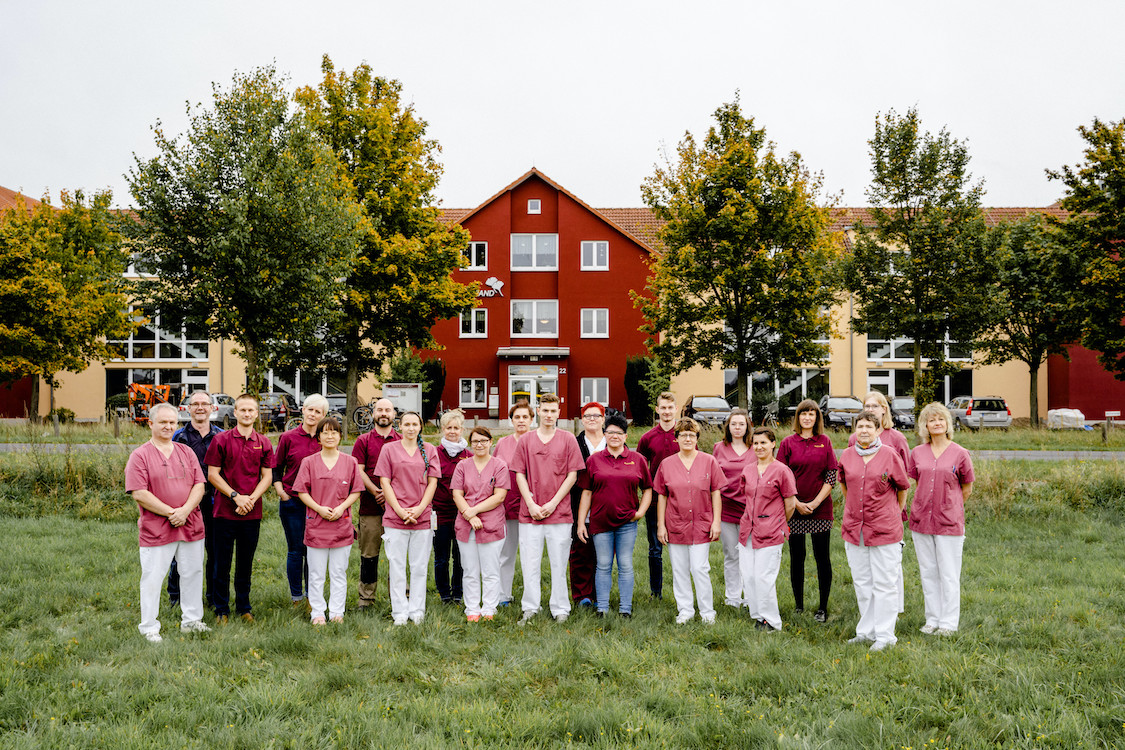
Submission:
<svg viewBox="0 0 1125 750">
<path fill-rule="evenodd" d="M 1081 335 L 1074 279 L 1081 261 L 1058 242 L 1042 215 L 993 232 L 1001 237 L 993 291 L 1002 298 L 996 327 L 976 342 L 983 364 L 1019 360 L 1030 374 L 1032 426 L 1040 426 L 1040 368 L 1048 354 L 1069 359 L 1066 344 Z"/>
</svg>

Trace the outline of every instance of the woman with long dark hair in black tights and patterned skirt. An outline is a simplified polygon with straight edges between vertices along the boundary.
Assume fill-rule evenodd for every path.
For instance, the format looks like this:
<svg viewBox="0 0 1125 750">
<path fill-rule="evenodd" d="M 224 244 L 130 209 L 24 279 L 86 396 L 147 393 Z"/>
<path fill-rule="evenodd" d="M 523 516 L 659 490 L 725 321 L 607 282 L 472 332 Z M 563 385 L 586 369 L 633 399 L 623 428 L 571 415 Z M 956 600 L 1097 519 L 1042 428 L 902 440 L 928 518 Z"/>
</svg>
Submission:
<svg viewBox="0 0 1125 750">
<path fill-rule="evenodd" d="M 836 450 L 825 434 L 825 418 L 812 399 L 796 405 L 793 434 L 781 441 L 777 460 L 796 479 L 796 512 L 789 519 L 789 578 L 796 612 L 804 611 L 804 536 L 812 537 L 817 561 L 820 604 L 813 618 L 828 622 L 828 595 L 832 590 L 829 552 L 832 530 L 832 487 L 836 485 Z"/>
</svg>

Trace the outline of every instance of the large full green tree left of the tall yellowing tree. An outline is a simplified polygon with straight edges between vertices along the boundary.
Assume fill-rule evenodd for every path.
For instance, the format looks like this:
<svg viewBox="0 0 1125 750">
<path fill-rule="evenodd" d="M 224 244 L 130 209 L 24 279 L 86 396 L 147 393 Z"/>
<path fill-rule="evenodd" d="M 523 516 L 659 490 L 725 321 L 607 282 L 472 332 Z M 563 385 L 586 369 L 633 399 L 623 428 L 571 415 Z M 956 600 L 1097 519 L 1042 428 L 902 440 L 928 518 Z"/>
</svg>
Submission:
<svg viewBox="0 0 1125 750">
<path fill-rule="evenodd" d="M 213 85 L 179 138 L 128 179 L 137 238 L 155 277 L 141 295 L 163 316 L 231 338 L 250 389 L 288 347 L 318 351 L 362 234 L 362 209 L 332 150 L 289 111 L 272 67 Z"/>
</svg>

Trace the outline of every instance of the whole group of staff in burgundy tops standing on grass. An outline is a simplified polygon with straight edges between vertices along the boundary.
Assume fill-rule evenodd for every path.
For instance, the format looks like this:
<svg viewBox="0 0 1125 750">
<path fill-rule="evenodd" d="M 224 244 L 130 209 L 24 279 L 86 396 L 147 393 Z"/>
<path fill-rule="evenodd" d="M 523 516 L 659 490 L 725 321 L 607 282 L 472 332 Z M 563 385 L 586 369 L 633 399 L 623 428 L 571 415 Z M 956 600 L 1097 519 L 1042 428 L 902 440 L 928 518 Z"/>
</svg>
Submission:
<svg viewBox="0 0 1125 750">
<path fill-rule="evenodd" d="M 879 651 L 894 644 L 902 611 L 902 523 L 914 479 L 909 526 L 926 602 L 922 632 L 957 630 L 963 506 L 973 469 L 968 451 L 952 441 L 952 418 L 940 404 L 921 410 L 921 444 L 910 451 L 885 397 L 868 394 L 838 461 L 811 400 L 798 405 L 793 434 L 780 446 L 772 430 L 752 430 L 749 415 L 734 409 L 712 453 L 700 450 L 700 425 L 677 418 L 669 392 L 658 398 L 658 423 L 637 450 L 626 444 L 624 416 L 606 415 L 597 403 L 582 407 L 578 435 L 558 430 L 554 395 L 540 398 L 538 414 L 526 401 L 515 404 L 508 413 L 514 432 L 495 448 L 486 427 L 466 437 L 457 410 L 443 415 L 439 445 L 423 440 L 415 413 L 403 414 L 395 431 L 394 406 L 380 399 L 374 428 L 351 455 L 340 451 L 342 428 L 326 416 L 322 396 L 305 400 L 302 424 L 281 435 L 277 451 L 253 428 L 258 403 L 250 395 L 236 399 L 237 425 L 225 432 L 209 422 L 207 394 L 194 394 L 188 409 L 191 422 L 177 430 L 174 407 L 153 407 L 152 440 L 126 468 L 126 489 L 141 509 L 140 630 L 151 641 L 161 640 L 156 613 L 170 564 L 169 591 L 179 598 L 182 631 L 208 630 L 204 596 L 216 622 L 228 621 L 232 564 L 234 614 L 253 622 L 250 573 L 262 496 L 271 485 L 288 546 L 290 597 L 307 607 L 314 625 L 342 621 L 357 541 L 358 606 L 376 599 L 384 553 L 395 625 L 425 617 L 431 553 L 438 594 L 462 604 L 469 622 L 492 620 L 498 607 L 514 604 L 519 557 L 520 623 L 530 622 L 541 611 L 544 549 L 548 611 L 556 621 L 565 622 L 575 605 L 606 616 L 614 563 L 618 613 L 630 617 L 644 519 L 650 594 L 663 596 L 666 548 L 677 624 L 694 618 L 696 608 L 704 623 L 714 622 L 709 557 L 718 541 L 726 604 L 749 609 L 766 631 L 782 627 L 776 578 L 786 542 L 795 608 L 804 607 L 806 535 L 819 587 L 813 617 L 827 621 L 832 491 L 839 485 L 860 608 L 850 642 Z"/>
</svg>

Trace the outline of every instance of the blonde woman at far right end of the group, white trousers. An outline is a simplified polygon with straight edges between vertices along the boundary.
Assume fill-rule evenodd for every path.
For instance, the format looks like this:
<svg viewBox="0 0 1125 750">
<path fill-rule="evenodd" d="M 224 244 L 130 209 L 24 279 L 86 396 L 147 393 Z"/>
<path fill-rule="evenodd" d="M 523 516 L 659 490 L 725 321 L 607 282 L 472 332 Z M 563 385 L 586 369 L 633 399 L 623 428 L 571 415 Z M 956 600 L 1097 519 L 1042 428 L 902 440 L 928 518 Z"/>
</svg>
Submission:
<svg viewBox="0 0 1125 750">
<path fill-rule="evenodd" d="M 961 624 L 961 551 L 965 545 L 965 499 L 973 491 L 973 460 L 953 442 L 953 417 L 940 404 L 927 404 L 918 415 L 922 444 L 914 450 L 910 476 L 916 482 L 910 506 L 910 534 L 921 594 L 926 600 L 927 635 L 952 635 Z"/>
</svg>

